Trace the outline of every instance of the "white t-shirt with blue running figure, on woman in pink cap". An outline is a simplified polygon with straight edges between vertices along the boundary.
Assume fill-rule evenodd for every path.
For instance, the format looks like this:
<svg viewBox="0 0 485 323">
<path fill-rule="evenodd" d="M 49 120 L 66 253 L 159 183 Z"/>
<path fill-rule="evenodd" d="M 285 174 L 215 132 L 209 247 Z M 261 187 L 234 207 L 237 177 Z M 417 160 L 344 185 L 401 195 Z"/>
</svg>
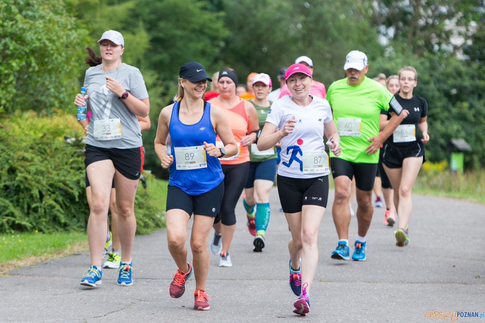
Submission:
<svg viewBox="0 0 485 323">
<path fill-rule="evenodd" d="M 281 162 L 278 175 L 292 178 L 314 178 L 330 174 L 330 171 L 303 173 L 303 153 L 324 151 L 323 124 L 332 121 L 332 110 L 328 101 L 316 96 L 306 107 L 300 107 L 289 95 L 278 99 L 268 112 L 266 122 L 273 123 L 279 130 L 287 120 L 295 116 L 293 132 L 281 139 Z"/>
</svg>

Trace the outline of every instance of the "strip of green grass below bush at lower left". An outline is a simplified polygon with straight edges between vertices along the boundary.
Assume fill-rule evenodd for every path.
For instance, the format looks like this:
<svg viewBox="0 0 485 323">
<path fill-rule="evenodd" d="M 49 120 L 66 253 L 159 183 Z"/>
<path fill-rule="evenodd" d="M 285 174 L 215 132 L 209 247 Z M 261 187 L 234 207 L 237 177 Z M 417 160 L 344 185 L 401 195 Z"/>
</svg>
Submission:
<svg viewBox="0 0 485 323">
<path fill-rule="evenodd" d="M 85 250 L 85 232 L 9 233 L 0 235 L 0 271 Z"/>
</svg>

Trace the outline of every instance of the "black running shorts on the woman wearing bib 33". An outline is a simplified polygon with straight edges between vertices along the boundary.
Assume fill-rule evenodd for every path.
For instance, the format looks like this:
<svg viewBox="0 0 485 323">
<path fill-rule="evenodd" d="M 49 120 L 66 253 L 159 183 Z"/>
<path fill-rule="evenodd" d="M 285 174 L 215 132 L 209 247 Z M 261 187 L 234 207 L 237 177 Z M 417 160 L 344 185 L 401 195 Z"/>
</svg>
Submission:
<svg viewBox="0 0 485 323">
<path fill-rule="evenodd" d="M 119 149 L 101 148 L 86 144 L 86 152 L 84 154 L 84 166 L 86 168 L 97 161 L 110 159 L 114 168 L 130 180 L 140 179 L 143 171 L 143 146 Z"/>
</svg>

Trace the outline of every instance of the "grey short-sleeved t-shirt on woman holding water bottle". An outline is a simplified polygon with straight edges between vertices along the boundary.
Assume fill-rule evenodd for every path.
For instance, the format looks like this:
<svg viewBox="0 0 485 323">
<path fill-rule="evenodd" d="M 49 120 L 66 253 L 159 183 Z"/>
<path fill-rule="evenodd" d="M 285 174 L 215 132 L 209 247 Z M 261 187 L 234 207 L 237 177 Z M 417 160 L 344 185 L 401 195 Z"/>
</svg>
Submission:
<svg viewBox="0 0 485 323">
<path fill-rule="evenodd" d="M 105 76 L 116 79 L 123 89 L 140 100 L 148 97 L 143 76 L 138 68 L 125 63 L 110 72 L 101 71 L 101 66 L 90 67 L 84 77 L 84 87 L 89 95 L 89 105 L 91 107 L 91 119 L 86 143 L 102 148 L 129 149 L 140 147 L 143 145 L 140 123 L 138 123 L 136 115 L 129 110 L 123 99 L 120 99 L 116 94 L 108 90 Z M 120 118 L 122 138 L 96 140 L 93 136 L 94 121 L 113 118 Z"/>
</svg>

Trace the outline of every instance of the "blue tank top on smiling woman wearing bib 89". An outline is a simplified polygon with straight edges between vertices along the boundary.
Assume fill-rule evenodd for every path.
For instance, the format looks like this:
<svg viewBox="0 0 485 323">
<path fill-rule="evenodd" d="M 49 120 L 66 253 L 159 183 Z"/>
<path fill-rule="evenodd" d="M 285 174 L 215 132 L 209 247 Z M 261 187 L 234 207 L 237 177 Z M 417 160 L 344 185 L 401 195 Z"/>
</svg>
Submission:
<svg viewBox="0 0 485 323">
<path fill-rule="evenodd" d="M 215 145 L 216 134 L 212 129 L 212 123 L 210 123 L 210 103 L 205 104 L 206 108 L 199 122 L 184 124 L 178 119 L 178 107 L 180 105 L 180 101 L 178 101 L 172 108 L 169 124 L 171 155 L 174 156 L 174 162 L 170 165 L 168 184 L 180 187 L 190 195 L 201 195 L 209 192 L 221 184 L 224 179 L 219 159 L 209 154 L 206 154 L 206 168 L 177 170 L 176 167 L 175 147 L 200 146 L 204 144 L 204 141 Z"/>
</svg>

